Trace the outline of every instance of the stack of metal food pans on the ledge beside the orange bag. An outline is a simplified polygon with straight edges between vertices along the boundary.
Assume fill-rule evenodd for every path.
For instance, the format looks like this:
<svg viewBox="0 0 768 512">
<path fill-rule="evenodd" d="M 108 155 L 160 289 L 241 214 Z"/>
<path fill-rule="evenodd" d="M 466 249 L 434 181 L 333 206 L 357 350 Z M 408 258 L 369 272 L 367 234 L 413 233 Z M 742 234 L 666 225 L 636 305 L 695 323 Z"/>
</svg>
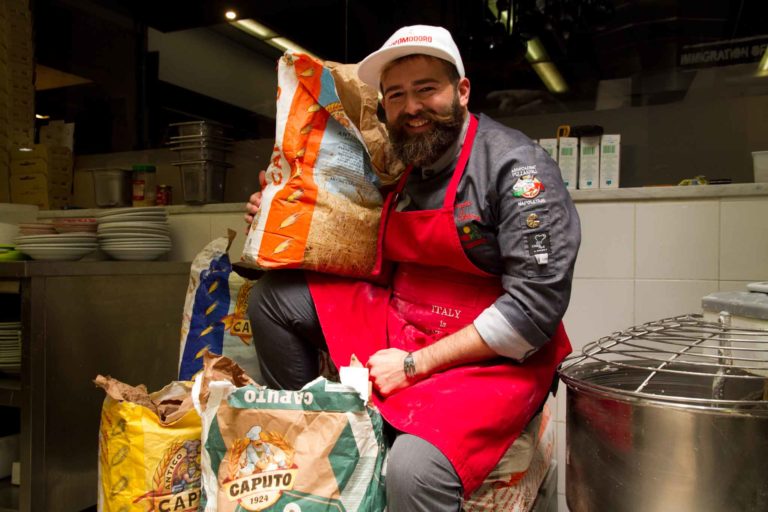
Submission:
<svg viewBox="0 0 768 512">
<path fill-rule="evenodd" d="M 171 151 L 177 155 L 173 165 L 181 172 L 184 202 L 189 204 L 224 201 L 226 170 L 232 167 L 227 155 L 232 152 L 232 139 L 223 125 L 210 121 L 173 123 Z"/>
</svg>

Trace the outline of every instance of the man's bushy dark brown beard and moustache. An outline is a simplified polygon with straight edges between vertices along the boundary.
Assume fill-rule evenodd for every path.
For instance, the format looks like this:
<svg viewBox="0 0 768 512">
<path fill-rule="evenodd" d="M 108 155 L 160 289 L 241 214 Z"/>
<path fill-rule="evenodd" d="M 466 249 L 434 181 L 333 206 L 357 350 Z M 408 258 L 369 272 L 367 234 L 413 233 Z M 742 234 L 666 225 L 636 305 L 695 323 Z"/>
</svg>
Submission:
<svg viewBox="0 0 768 512">
<path fill-rule="evenodd" d="M 432 129 L 424 133 L 409 134 L 405 124 L 416 118 L 432 123 Z M 424 109 L 419 115 L 401 114 L 393 123 L 388 123 L 389 141 L 395 155 L 406 165 L 425 167 L 433 164 L 456 142 L 464 125 L 464 112 L 459 98 L 454 97 L 451 106 L 444 112 Z"/>
</svg>

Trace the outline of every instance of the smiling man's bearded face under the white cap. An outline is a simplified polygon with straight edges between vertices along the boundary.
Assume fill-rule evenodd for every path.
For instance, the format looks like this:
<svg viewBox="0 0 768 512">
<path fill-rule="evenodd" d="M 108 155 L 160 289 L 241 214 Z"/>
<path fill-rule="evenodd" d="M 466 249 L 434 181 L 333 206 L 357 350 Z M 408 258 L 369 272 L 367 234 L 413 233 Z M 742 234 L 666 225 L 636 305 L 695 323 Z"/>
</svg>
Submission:
<svg viewBox="0 0 768 512">
<path fill-rule="evenodd" d="M 434 163 L 461 133 L 469 80 L 454 86 L 441 61 L 419 56 L 387 68 L 381 87 L 395 154 L 417 167 Z"/>
</svg>

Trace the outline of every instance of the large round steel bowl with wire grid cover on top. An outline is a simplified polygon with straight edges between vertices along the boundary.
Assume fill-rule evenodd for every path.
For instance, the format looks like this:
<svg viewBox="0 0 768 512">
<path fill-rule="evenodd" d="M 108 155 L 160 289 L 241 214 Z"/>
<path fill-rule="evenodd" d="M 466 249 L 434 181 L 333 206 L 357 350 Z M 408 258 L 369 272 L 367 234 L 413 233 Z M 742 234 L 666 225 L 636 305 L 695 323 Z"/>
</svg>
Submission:
<svg viewBox="0 0 768 512">
<path fill-rule="evenodd" d="M 766 349 L 768 330 L 724 313 L 633 327 L 568 358 L 570 510 L 768 510 Z"/>
</svg>

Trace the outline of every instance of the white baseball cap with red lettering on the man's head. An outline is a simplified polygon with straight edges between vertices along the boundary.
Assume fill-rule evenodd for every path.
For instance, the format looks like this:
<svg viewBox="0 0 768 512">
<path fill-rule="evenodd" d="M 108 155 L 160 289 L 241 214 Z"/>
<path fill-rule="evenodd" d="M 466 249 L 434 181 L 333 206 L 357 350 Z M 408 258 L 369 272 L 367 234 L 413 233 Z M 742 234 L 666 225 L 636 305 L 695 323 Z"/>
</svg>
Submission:
<svg viewBox="0 0 768 512">
<path fill-rule="evenodd" d="M 384 45 L 364 58 L 357 69 L 357 76 L 374 89 L 379 88 L 381 70 L 393 60 L 406 55 L 431 55 L 447 60 L 464 78 L 464 63 L 451 33 L 443 27 L 412 25 L 403 27 L 387 39 Z"/>
</svg>

